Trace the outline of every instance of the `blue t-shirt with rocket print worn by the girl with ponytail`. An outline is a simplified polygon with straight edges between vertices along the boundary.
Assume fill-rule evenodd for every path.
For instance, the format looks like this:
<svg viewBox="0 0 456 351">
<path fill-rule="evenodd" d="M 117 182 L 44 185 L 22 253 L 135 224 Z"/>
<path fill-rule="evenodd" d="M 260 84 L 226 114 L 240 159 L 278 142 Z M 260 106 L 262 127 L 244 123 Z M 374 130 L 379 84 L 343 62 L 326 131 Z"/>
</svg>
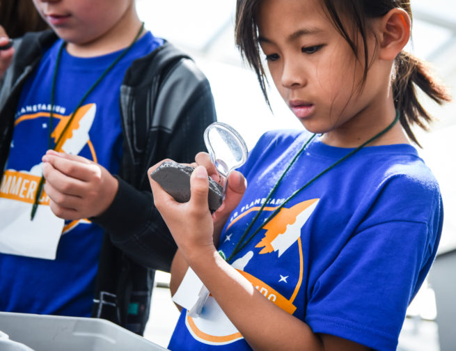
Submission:
<svg viewBox="0 0 456 351">
<path fill-rule="evenodd" d="M 221 235 L 219 249 L 227 257 L 307 138 L 282 131 L 258 141 L 240 169 L 246 193 Z M 253 231 L 351 150 L 312 141 Z M 285 203 L 232 265 L 315 333 L 395 350 L 407 306 L 434 260 L 442 220 L 439 186 L 414 147 L 366 147 Z M 168 347 L 250 350 L 212 297 L 198 318 L 182 311 Z"/>
</svg>

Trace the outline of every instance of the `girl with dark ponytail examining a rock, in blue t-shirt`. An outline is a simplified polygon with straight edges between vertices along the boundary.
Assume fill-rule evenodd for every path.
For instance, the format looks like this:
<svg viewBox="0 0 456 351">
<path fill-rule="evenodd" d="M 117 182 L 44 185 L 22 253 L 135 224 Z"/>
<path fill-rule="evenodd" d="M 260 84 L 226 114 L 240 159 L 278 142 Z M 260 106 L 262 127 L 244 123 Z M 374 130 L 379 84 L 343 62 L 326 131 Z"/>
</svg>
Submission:
<svg viewBox="0 0 456 351">
<path fill-rule="evenodd" d="M 202 309 L 182 310 L 171 350 L 396 349 L 443 221 L 439 185 L 412 145 L 412 126 L 431 121 L 415 88 L 450 100 L 403 51 L 410 33 L 409 1 L 237 1 L 237 46 L 266 100 L 260 52 L 313 134 L 263 135 L 212 215 L 207 155 L 188 203 L 150 181 L 179 247 L 171 291 L 198 296 L 192 271 L 210 291 Z"/>
</svg>

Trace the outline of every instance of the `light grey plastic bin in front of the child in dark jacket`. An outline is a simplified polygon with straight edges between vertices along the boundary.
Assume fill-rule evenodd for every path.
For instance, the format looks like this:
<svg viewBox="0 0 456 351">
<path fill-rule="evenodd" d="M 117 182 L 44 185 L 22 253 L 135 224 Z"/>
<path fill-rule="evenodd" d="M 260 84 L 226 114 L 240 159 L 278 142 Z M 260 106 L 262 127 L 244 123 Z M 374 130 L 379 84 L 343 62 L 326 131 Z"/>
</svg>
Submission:
<svg viewBox="0 0 456 351">
<path fill-rule="evenodd" d="M 1 351 L 166 350 L 98 318 L 0 312 L 0 331 Z"/>
</svg>

